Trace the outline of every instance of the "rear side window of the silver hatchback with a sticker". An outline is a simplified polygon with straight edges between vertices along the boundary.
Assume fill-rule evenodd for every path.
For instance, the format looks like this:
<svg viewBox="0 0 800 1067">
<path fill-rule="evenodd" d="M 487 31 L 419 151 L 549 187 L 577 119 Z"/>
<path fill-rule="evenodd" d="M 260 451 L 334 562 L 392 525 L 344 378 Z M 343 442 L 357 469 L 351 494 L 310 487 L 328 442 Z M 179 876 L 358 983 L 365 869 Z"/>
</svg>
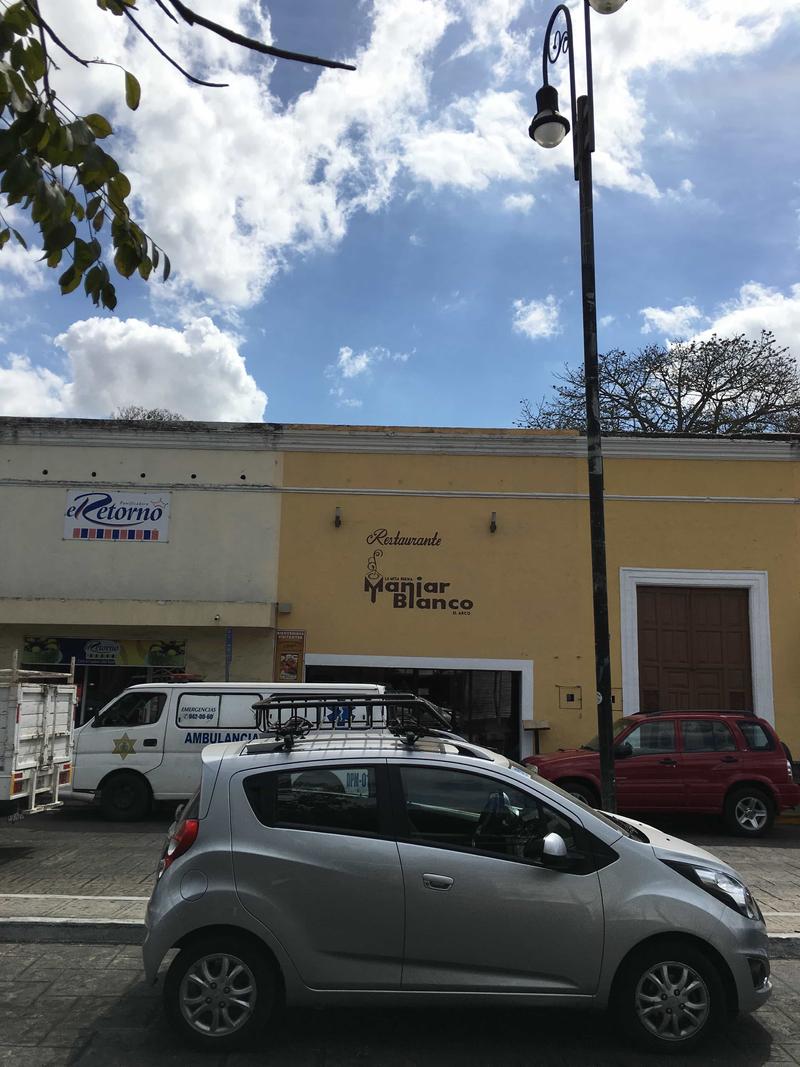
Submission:
<svg viewBox="0 0 800 1067">
<path fill-rule="evenodd" d="M 244 792 L 267 826 L 331 833 L 380 831 L 374 767 L 306 767 L 251 775 Z"/>
</svg>

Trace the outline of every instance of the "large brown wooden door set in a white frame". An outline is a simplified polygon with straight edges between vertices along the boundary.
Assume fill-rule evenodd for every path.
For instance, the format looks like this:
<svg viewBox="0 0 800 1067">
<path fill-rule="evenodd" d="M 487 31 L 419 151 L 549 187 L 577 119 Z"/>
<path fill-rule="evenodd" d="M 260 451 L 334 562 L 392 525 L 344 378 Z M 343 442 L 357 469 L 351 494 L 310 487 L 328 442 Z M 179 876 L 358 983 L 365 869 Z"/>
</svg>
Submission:
<svg viewBox="0 0 800 1067">
<path fill-rule="evenodd" d="M 643 712 L 752 711 L 747 589 L 639 586 Z"/>
</svg>

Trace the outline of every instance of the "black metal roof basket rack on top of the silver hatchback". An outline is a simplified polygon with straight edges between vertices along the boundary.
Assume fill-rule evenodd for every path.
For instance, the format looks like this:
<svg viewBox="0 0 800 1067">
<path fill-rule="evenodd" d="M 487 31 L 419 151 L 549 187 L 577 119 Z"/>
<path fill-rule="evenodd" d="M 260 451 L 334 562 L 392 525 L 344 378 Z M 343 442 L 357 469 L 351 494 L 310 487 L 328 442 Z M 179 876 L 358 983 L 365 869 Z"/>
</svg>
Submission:
<svg viewBox="0 0 800 1067">
<path fill-rule="evenodd" d="M 273 694 L 257 700 L 253 711 L 265 735 L 247 745 L 253 753 L 288 752 L 313 730 L 387 730 L 409 747 L 421 737 L 464 742 L 452 732 L 451 712 L 414 692 Z"/>
</svg>

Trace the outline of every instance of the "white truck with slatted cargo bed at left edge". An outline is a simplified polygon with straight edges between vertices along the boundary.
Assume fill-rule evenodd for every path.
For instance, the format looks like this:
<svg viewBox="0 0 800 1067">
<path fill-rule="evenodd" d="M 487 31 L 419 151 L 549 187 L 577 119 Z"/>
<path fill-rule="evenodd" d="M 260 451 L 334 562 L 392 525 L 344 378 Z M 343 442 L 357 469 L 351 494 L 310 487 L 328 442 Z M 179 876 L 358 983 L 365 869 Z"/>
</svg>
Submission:
<svg viewBox="0 0 800 1067">
<path fill-rule="evenodd" d="M 0 815 L 61 807 L 73 770 L 75 660 L 69 670 L 0 670 Z"/>
</svg>

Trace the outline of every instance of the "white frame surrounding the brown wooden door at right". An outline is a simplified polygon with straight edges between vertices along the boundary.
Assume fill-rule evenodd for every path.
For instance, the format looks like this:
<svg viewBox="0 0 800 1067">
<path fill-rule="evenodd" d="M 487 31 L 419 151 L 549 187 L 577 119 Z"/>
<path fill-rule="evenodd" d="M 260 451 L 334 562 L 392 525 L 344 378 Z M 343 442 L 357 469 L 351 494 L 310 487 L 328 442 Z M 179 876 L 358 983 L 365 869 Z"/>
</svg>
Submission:
<svg viewBox="0 0 800 1067">
<path fill-rule="evenodd" d="M 774 722 L 772 642 L 769 627 L 769 579 L 766 571 L 689 571 L 666 568 L 620 568 L 620 630 L 622 639 L 622 706 L 625 715 L 639 711 L 638 586 L 695 586 L 704 589 L 747 589 L 750 605 L 750 663 L 753 711 Z"/>
</svg>

